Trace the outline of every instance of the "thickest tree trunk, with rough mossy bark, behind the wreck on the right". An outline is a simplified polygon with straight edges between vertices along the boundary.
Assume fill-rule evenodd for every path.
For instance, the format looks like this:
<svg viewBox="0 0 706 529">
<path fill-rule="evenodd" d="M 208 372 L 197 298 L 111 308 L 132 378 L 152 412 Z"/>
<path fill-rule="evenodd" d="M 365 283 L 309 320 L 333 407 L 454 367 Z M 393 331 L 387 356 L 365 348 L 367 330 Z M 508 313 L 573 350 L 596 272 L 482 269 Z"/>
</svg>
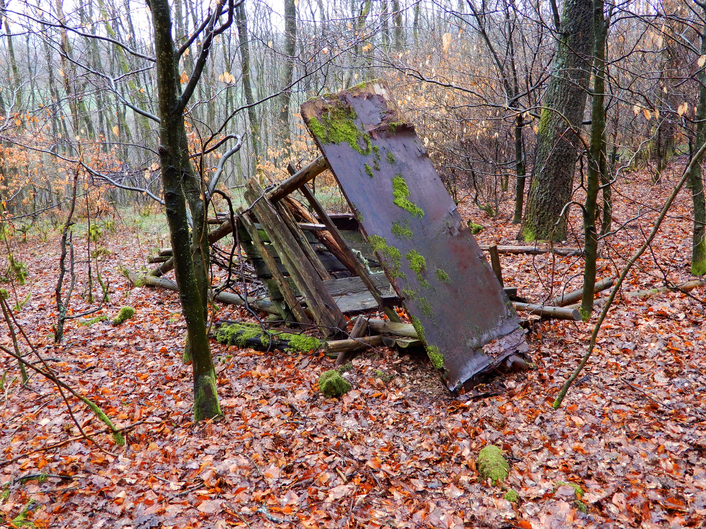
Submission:
<svg viewBox="0 0 706 529">
<path fill-rule="evenodd" d="M 583 121 L 592 48 L 592 0 L 566 0 L 551 80 L 539 119 L 532 187 L 521 235 L 566 239 L 568 209 Z"/>
</svg>

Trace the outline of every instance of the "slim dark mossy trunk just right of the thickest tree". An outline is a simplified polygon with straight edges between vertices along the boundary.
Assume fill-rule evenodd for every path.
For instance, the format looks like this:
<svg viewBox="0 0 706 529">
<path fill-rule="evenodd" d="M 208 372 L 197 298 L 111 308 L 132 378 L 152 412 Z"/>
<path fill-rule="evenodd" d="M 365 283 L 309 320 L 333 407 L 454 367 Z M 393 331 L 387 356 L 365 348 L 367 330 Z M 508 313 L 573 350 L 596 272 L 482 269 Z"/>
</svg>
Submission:
<svg viewBox="0 0 706 529">
<path fill-rule="evenodd" d="M 598 257 L 597 200 L 607 178 L 606 164 L 606 36 L 609 21 L 604 17 L 604 0 L 593 0 L 593 90 L 591 104 L 591 145 L 588 152 L 586 202 L 583 207 L 584 268 L 581 317 L 588 320 L 593 310 Z M 604 184 L 607 185 L 607 184 Z"/>
</svg>

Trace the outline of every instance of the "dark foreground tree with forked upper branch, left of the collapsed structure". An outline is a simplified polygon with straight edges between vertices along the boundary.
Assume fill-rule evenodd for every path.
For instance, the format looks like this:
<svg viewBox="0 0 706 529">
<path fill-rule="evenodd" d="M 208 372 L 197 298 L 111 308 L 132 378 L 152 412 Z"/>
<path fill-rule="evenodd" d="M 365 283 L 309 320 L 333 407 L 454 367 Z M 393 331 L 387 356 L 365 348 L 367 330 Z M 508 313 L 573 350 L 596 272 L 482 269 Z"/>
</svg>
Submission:
<svg viewBox="0 0 706 529">
<path fill-rule="evenodd" d="M 157 66 L 157 90 L 160 107 L 160 162 L 162 163 L 162 186 L 169 224 L 169 235 L 174 252 L 174 274 L 179 287 L 181 310 L 189 333 L 193 369 L 193 415 L 194 420 L 220 415 L 216 391 L 215 370 L 211 358 L 210 343 L 206 333 L 208 288 L 205 260 L 208 259 L 208 241 L 205 240 L 205 202 L 202 195 L 203 182 L 193 173 L 189 162 L 189 149 L 184 126 L 184 107 L 203 71 L 205 59 L 213 42 L 213 30 L 217 17 L 212 20 L 203 35 L 201 56 L 196 61 L 191 79 L 184 93 L 179 82 L 179 54 L 172 39 L 172 18 L 168 0 L 152 0 L 152 21 L 155 35 Z M 232 3 L 230 4 L 233 8 Z M 222 9 L 222 4 L 215 10 Z M 189 201 L 193 219 L 193 243 L 196 251 L 191 253 L 189 221 L 186 202 Z"/>
</svg>

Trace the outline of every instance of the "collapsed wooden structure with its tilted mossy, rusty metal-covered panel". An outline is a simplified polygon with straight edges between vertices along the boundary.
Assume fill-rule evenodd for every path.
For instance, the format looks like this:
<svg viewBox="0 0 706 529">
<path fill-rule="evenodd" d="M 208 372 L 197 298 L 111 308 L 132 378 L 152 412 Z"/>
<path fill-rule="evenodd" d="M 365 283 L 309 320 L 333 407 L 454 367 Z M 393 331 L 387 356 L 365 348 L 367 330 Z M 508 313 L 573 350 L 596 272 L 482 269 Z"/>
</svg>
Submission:
<svg viewBox="0 0 706 529">
<path fill-rule="evenodd" d="M 381 343 L 364 339 L 361 327 L 376 322 L 371 329 L 384 332 L 386 325 L 388 332 L 407 336 L 407 344 L 421 342 L 452 390 L 525 353 L 508 298 L 515 291 L 503 288 L 497 259 L 489 266 L 387 87 L 373 81 L 312 99 L 301 114 L 323 156 L 300 171 L 290 167 L 292 176 L 272 188 L 250 178 L 244 193 L 249 207 L 235 218 L 238 245 L 267 295 L 223 292 L 216 299 L 246 303 L 302 327 L 315 325 L 330 339 L 345 334 L 347 317 L 379 309 L 390 321 L 359 320 L 350 333 L 353 346 Z M 307 183 L 325 169 L 352 215 L 328 214 L 313 195 Z M 294 191 L 309 207 L 292 197 Z M 220 220 L 210 243 L 233 231 L 231 219 Z M 167 258 L 141 281 L 172 288 L 160 278 L 171 267 Z M 564 298 L 568 304 L 570 296 Z M 412 325 L 401 324 L 395 306 L 407 310 Z M 580 319 L 575 308 L 515 308 Z"/>
</svg>

